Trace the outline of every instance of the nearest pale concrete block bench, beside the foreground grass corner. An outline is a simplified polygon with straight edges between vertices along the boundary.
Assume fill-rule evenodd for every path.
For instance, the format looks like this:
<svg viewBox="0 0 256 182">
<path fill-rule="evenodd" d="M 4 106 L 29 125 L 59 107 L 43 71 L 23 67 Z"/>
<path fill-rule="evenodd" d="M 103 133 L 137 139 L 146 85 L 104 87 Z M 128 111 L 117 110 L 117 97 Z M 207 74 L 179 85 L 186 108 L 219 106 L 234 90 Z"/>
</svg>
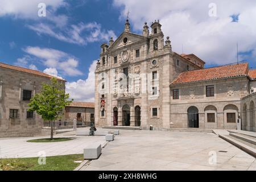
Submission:
<svg viewBox="0 0 256 182">
<path fill-rule="evenodd" d="M 84 159 L 92 160 L 98 159 L 101 155 L 101 144 L 94 143 L 84 148 Z"/>
</svg>

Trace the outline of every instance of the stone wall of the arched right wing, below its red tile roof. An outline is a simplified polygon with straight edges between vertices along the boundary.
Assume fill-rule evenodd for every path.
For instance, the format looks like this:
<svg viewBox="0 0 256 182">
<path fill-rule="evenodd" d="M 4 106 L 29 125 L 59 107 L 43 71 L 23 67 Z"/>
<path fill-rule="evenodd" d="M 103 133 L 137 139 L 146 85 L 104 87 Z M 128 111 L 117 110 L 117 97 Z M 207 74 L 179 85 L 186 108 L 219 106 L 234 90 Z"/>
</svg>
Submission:
<svg viewBox="0 0 256 182">
<path fill-rule="evenodd" d="M 171 127 L 188 127 L 188 109 L 199 110 L 199 128 L 237 129 L 237 119 L 241 115 L 241 98 L 245 97 L 249 81 L 247 77 L 229 78 L 171 86 L 179 89 L 178 100 L 171 97 Z M 214 97 L 206 97 L 206 86 L 214 85 Z M 214 113 L 215 122 L 207 122 L 207 113 Z M 228 123 L 226 113 L 236 113 L 236 123 Z"/>
</svg>

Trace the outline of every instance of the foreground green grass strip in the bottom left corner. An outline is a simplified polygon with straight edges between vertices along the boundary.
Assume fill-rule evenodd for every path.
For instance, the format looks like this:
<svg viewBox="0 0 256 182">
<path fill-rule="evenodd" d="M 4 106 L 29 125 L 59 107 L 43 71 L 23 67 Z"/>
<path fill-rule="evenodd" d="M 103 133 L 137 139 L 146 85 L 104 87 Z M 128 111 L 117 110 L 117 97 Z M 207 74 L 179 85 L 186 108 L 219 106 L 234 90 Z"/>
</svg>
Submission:
<svg viewBox="0 0 256 182">
<path fill-rule="evenodd" d="M 39 158 L 0 159 L 0 171 L 73 171 L 84 160 L 82 154 L 46 157 L 46 164 L 38 164 Z"/>
</svg>

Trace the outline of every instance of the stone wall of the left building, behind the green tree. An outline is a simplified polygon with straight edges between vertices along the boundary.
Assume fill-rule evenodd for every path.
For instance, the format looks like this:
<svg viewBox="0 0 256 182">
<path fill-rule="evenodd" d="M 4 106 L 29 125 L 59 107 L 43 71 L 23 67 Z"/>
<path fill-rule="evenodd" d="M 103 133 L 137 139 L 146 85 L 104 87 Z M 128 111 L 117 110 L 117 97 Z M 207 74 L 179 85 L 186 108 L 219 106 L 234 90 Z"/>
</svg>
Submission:
<svg viewBox="0 0 256 182">
<path fill-rule="evenodd" d="M 27 104 L 23 101 L 23 90 L 40 92 L 42 82 L 49 78 L 29 73 L 0 68 L 2 78 L 2 99 L 0 100 L 0 137 L 28 137 L 42 134 L 43 120 L 34 112 L 34 118 L 27 119 Z M 19 100 L 21 98 L 21 100 Z M 18 118 L 10 119 L 10 109 L 18 109 Z"/>
</svg>

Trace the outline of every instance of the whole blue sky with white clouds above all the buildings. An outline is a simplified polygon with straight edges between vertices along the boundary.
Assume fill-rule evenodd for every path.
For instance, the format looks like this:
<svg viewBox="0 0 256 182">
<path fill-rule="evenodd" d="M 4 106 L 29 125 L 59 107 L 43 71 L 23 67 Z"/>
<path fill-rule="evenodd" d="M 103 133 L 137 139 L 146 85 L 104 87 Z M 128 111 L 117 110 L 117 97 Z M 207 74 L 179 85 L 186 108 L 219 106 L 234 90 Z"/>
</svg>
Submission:
<svg viewBox="0 0 256 182">
<path fill-rule="evenodd" d="M 46 17 L 38 16 L 40 2 L 46 4 Z M 63 77 L 72 98 L 93 101 L 100 45 L 122 33 L 129 10 L 133 32 L 141 34 L 144 22 L 159 19 L 172 49 L 195 53 L 207 62 L 206 67 L 234 63 L 238 42 L 239 60 L 256 68 L 256 2 L 211 3 L 0 0 L 0 61 Z"/>
</svg>

